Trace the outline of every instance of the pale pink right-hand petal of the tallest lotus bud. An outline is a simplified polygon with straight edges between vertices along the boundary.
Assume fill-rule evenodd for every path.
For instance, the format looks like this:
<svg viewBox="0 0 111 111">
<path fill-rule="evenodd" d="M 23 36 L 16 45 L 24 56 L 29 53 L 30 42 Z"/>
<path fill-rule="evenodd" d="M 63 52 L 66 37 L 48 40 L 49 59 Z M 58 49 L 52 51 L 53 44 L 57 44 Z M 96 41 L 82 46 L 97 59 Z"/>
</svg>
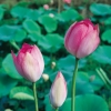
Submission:
<svg viewBox="0 0 111 111">
<path fill-rule="evenodd" d="M 92 53 L 100 43 L 99 37 L 97 37 L 98 31 L 91 31 L 83 38 L 81 44 L 77 52 L 77 58 L 84 58 Z"/>
</svg>

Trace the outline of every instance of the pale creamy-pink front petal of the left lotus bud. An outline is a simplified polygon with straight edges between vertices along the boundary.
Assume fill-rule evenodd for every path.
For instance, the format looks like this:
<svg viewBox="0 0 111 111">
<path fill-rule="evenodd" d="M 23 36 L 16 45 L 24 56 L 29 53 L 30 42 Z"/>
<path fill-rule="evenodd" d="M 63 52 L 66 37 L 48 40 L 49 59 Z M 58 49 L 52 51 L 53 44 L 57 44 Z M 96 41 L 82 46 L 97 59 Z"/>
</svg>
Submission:
<svg viewBox="0 0 111 111">
<path fill-rule="evenodd" d="M 30 80 L 31 82 L 36 82 L 40 79 L 41 74 L 39 73 L 39 65 L 29 52 L 26 53 L 21 65 L 23 70 L 23 77 L 26 79 Z"/>
</svg>

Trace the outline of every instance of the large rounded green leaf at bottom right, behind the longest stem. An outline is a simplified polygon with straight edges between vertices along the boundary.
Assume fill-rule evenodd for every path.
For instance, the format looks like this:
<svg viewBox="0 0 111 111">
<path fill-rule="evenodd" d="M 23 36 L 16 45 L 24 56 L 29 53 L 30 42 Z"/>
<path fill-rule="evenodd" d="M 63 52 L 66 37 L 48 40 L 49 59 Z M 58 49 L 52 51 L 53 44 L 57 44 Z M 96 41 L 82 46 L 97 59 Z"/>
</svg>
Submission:
<svg viewBox="0 0 111 111">
<path fill-rule="evenodd" d="M 61 111 L 71 111 L 71 98 L 65 100 Z M 109 111 L 109 109 L 107 102 L 101 97 L 83 94 L 75 97 L 75 111 Z"/>
</svg>

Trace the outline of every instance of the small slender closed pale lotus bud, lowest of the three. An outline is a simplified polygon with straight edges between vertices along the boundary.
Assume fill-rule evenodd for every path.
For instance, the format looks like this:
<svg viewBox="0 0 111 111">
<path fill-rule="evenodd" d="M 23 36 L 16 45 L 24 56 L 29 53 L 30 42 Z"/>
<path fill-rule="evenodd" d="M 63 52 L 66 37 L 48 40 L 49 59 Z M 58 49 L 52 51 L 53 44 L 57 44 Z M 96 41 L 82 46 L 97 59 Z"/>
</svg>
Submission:
<svg viewBox="0 0 111 111">
<path fill-rule="evenodd" d="M 67 98 L 67 82 L 61 72 L 58 72 L 50 90 L 50 102 L 54 108 L 63 104 Z"/>
</svg>

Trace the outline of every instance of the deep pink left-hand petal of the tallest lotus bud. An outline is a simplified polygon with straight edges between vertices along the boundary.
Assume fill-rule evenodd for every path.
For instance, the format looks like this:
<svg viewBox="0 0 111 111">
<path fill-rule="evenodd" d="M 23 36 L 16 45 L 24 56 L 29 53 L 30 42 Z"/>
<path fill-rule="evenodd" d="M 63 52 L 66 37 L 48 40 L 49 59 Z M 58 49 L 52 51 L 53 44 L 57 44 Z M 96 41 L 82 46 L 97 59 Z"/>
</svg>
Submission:
<svg viewBox="0 0 111 111">
<path fill-rule="evenodd" d="M 72 24 L 68 30 L 64 38 L 64 44 L 67 50 L 71 52 L 73 56 L 77 54 L 80 42 L 82 38 L 84 38 L 87 31 L 88 24 L 82 24 L 82 22 Z"/>
</svg>

